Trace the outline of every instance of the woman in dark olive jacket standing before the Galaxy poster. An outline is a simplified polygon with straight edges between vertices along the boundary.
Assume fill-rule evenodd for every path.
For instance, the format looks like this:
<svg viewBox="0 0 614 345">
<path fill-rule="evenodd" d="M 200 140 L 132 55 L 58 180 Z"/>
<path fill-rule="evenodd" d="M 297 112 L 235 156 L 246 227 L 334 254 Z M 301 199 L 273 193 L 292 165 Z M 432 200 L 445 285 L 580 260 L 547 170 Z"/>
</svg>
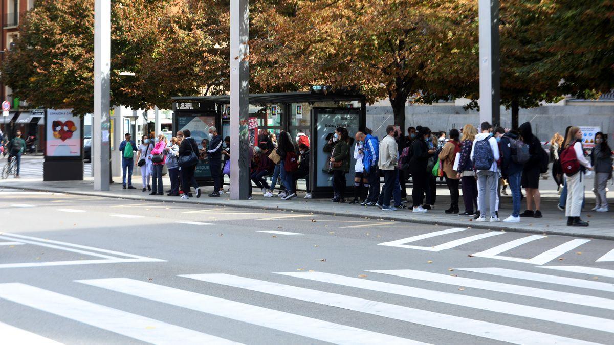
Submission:
<svg viewBox="0 0 614 345">
<path fill-rule="evenodd" d="M 323 150 L 330 153 L 328 167 L 333 172 L 333 202 L 345 203 L 346 174 L 350 163 L 348 130 L 337 127 Z"/>
</svg>

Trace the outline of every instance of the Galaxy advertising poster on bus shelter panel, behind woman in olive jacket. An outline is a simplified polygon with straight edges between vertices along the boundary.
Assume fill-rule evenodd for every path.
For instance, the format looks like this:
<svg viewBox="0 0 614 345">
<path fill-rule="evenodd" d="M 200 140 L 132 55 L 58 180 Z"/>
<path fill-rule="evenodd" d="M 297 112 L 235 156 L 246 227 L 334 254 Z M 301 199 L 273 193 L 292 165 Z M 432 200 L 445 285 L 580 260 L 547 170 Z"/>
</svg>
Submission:
<svg viewBox="0 0 614 345">
<path fill-rule="evenodd" d="M 354 165 L 356 160 L 354 159 L 354 136 L 359 127 L 359 116 L 354 113 L 346 114 L 317 114 L 317 140 L 319 140 L 318 148 L 320 152 L 317 153 L 316 160 L 316 174 L 317 174 L 317 187 L 330 187 L 333 185 L 332 175 L 328 174 L 328 168 L 330 165 L 330 153 L 324 152 L 324 145 L 328 142 L 328 138 L 332 138 L 335 133 L 335 128 L 345 127 L 348 130 L 349 138 L 351 139 L 351 146 L 349 149 L 350 171 L 348 178 L 348 186 L 354 185 Z"/>
</svg>

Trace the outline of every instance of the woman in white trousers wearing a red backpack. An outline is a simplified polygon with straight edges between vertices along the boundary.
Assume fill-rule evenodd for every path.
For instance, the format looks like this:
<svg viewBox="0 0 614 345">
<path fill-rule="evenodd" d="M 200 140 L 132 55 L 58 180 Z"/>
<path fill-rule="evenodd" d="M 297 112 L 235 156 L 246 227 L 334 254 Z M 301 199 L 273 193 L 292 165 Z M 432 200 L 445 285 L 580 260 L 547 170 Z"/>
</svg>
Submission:
<svg viewBox="0 0 614 345">
<path fill-rule="evenodd" d="M 582 150 L 582 131 L 580 128 L 573 126 L 567 133 L 565 138 L 565 149 L 573 149 L 575 158 L 580 163 L 580 170 L 567 176 L 567 207 L 565 207 L 565 215 L 567 216 L 567 226 L 569 227 L 588 227 L 588 222 L 580 219 L 582 211 L 582 200 L 584 198 L 585 171 L 593 170 L 591 163 L 586 159 L 584 150 Z M 561 164 L 563 162 L 561 161 Z"/>
</svg>

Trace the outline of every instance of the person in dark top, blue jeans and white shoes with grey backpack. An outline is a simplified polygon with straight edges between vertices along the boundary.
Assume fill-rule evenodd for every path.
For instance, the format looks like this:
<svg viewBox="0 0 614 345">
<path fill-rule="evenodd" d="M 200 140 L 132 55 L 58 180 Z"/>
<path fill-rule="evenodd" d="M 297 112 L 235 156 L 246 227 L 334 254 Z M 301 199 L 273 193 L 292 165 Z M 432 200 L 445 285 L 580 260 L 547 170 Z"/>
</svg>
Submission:
<svg viewBox="0 0 614 345">
<path fill-rule="evenodd" d="M 501 159 L 501 174 L 503 179 L 506 179 L 510 184 L 512 212 L 510 217 L 503 219 L 503 222 L 512 223 L 520 222 L 520 200 L 521 200 L 521 179 L 523 176 L 524 164 L 513 161 L 512 155 L 515 155 L 513 143 L 520 140 L 520 134 L 517 131 L 508 131 L 503 134 L 500 141 L 500 149 L 502 153 Z"/>
</svg>

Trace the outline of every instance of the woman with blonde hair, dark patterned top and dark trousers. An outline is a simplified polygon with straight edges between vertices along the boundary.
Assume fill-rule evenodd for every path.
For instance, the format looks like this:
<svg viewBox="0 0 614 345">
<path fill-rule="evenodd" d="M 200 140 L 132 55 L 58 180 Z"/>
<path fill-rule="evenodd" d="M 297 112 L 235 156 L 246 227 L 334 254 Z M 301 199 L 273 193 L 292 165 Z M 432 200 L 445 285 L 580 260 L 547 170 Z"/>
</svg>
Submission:
<svg viewBox="0 0 614 345">
<path fill-rule="evenodd" d="M 475 180 L 475 171 L 473 171 L 473 161 L 471 160 L 471 149 L 473 140 L 475 139 L 478 130 L 470 124 L 462 128 L 461 138 L 461 157 L 459 158 L 457 177 L 461 179 L 462 199 L 465 203 L 465 212 L 459 215 L 472 216 L 476 213 L 480 215 L 478 208 L 478 184 Z M 473 207 L 477 212 L 473 212 Z"/>
</svg>

